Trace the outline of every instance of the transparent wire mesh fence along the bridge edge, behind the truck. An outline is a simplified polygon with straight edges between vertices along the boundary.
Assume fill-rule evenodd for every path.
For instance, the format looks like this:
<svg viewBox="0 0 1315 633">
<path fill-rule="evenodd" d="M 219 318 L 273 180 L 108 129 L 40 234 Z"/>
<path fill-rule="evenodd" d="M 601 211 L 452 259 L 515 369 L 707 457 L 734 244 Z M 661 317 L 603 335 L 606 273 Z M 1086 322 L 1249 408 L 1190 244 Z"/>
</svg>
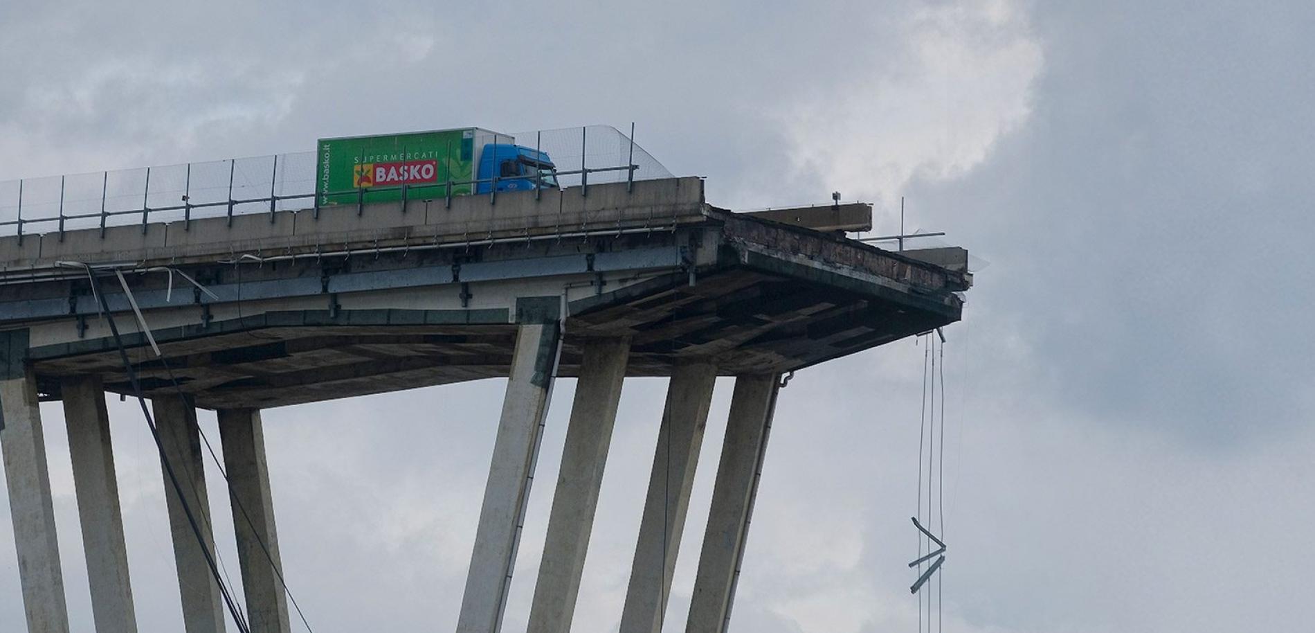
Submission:
<svg viewBox="0 0 1315 633">
<path fill-rule="evenodd" d="M 631 136 L 610 125 L 498 133 L 490 142 L 547 154 L 562 188 L 672 176 Z M 300 151 L 4 180 L 0 236 L 126 225 L 145 230 L 150 222 L 312 209 L 318 204 L 316 171 L 317 153 Z M 497 178 L 477 174 L 464 190 L 447 187 L 454 192 L 497 191 Z M 551 179 L 543 182 L 543 187 L 551 186 Z"/>
</svg>

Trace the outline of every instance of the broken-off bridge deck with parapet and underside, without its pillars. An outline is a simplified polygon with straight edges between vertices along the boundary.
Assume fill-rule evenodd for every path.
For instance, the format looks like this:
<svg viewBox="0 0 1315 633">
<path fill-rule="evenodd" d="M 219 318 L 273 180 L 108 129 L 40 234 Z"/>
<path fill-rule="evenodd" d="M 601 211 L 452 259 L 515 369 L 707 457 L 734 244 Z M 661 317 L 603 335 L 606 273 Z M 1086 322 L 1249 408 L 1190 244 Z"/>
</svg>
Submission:
<svg viewBox="0 0 1315 633">
<path fill-rule="evenodd" d="M 147 395 L 176 380 L 206 408 L 505 376 L 515 324 L 563 315 L 560 375 L 577 375 L 590 337 L 631 340 L 627 375 L 702 358 L 781 372 L 956 321 L 970 284 L 717 209 L 698 179 L 13 240 L 0 240 L 0 329 L 26 329 L 26 357 L 7 362 L 30 365 L 45 397 L 78 374 L 129 390 L 85 271 L 60 263 L 82 262 L 125 271 L 160 357 L 117 278 L 101 286 Z"/>
</svg>

